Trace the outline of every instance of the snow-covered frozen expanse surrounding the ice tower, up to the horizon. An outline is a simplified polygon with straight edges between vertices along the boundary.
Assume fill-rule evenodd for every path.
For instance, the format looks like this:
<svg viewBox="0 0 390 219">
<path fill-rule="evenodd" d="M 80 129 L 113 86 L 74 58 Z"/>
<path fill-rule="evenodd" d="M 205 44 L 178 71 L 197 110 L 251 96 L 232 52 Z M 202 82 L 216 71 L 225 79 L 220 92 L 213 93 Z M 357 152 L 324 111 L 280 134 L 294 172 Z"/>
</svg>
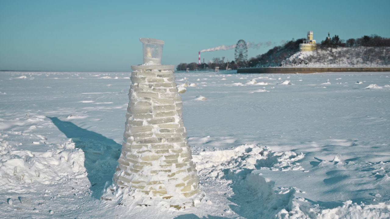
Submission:
<svg viewBox="0 0 390 219">
<path fill-rule="evenodd" d="M 2 218 L 389 218 L 390 72 L 177 72 L 206 197 L 102 201 L 129 72 L 0 73 Z"/>
</svg>

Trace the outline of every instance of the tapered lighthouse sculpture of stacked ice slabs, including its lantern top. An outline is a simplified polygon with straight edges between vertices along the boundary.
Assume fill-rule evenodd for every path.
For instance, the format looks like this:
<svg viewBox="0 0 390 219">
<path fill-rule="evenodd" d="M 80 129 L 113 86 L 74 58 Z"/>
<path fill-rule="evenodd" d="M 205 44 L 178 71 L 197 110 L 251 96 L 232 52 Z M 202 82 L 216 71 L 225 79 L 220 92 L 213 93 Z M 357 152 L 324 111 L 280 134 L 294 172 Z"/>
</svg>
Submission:
<svg viewBox="0 0 390 219">
<path fill-rule="evenodd" d="M 114 183 L 130 196 L 192 205 L 199 179 L 191 161 L 174 65 L 161 65 L 164 41 L 140 39 L 144 64 L 133 65 L 126 128 Z"/>
</svg>

